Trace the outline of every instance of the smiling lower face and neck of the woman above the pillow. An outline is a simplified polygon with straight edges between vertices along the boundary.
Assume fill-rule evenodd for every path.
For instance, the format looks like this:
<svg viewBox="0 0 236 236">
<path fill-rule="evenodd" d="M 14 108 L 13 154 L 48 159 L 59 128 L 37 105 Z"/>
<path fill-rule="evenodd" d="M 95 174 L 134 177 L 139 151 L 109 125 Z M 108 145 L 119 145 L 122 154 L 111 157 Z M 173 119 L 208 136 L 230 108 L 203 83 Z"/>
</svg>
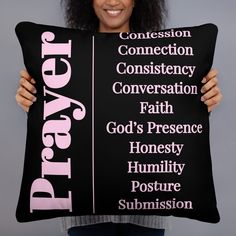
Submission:
<svg viewBox="0 0 236 236">
<path fill-rule="evenodd" d="M 128 32 L 134 0 L 93 0 L 99 32 Z"/>
</svg>

